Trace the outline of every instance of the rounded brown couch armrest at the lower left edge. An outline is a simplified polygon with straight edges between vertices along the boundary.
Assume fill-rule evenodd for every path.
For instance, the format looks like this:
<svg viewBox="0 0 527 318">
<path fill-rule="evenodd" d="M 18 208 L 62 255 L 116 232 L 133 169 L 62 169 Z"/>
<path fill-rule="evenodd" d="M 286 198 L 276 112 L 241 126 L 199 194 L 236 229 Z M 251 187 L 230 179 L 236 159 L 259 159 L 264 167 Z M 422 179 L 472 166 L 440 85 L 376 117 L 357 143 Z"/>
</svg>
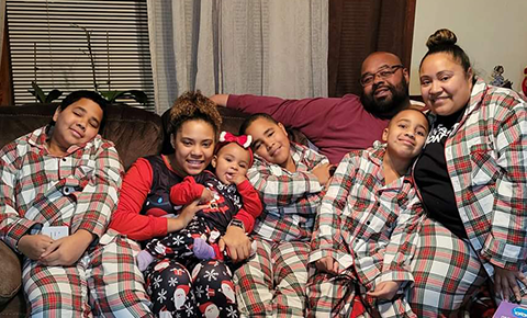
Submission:
<svg viewBox="0 0 527 318">
<path fill-rule="evenodd" d="M 0 241 L 0 305 L 8 303 L 22 284 L 22 268 L 18 255 Z"/>
</svg>

